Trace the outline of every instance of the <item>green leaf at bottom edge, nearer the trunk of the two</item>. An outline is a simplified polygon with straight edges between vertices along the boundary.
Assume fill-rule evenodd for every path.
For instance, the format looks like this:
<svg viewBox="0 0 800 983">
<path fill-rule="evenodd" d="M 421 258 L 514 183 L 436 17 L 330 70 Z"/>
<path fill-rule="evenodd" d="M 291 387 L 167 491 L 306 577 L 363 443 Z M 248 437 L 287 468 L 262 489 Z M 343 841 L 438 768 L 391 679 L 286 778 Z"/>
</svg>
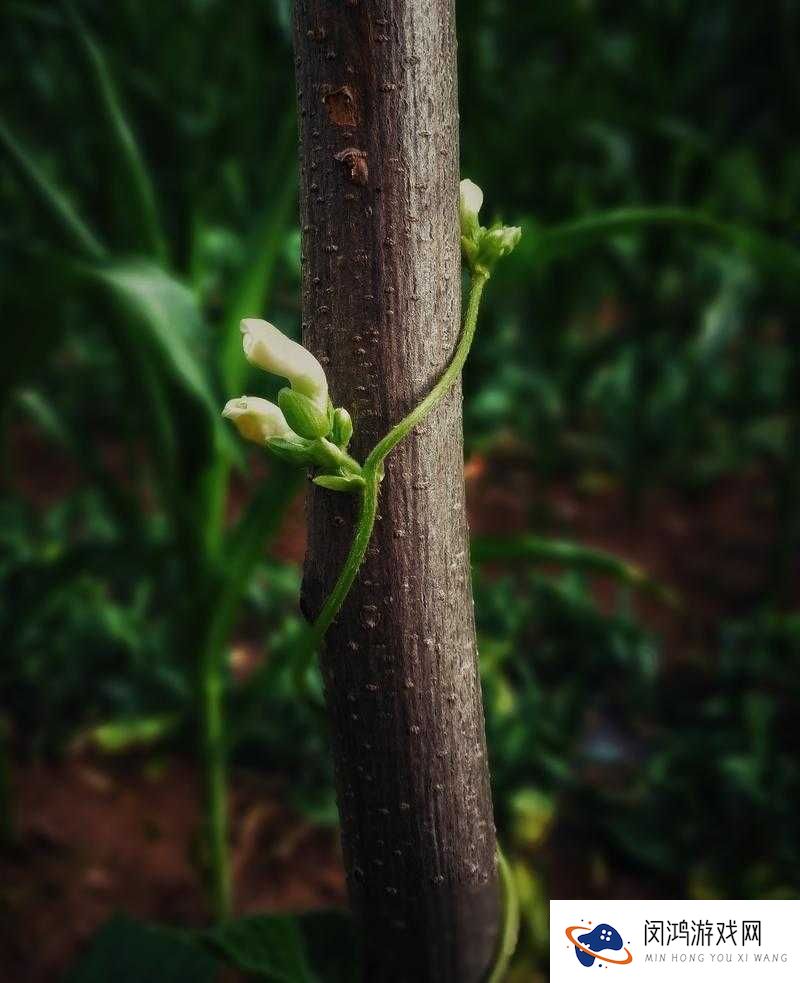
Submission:
<svg viewBox="0 0 800 983">
<path fill-rule="evenodd" d="M 316 983 L 295 918 L 253 915 L 226 922 L 203 936 L 212 951 L 237 969 L 275 983 Z"/>
</svg>

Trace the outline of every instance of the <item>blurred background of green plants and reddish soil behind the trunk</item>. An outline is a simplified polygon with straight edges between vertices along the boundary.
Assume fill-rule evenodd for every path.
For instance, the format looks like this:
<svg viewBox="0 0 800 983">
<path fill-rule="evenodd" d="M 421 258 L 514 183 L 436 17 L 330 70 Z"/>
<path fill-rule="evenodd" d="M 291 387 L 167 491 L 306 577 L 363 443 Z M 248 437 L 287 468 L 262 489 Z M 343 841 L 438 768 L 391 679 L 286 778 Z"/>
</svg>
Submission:
<svg viewBox="0 0 800 983">
<path fill-rule="evenodd" d="M 465 425 L 530 980 L 551 896 L 800 890 L 800 5 L 458 16 L 462 173 L 525 229 Z M 224 915 L 227 841 L 239 913 L 344 896 L 324 727 L 294 683 L 301 490 L 218 419 L 248 389 L 239 318 L 299 334 L 289 19 L 284 0 L 0 12 L 0 944 L 19 978 L 51 979 L 118 908 Z M 196 873 L 211 909 L 185 900 Z M 23 923 L 50 941 L 32 952 Z M 212 951 L 247 966 L 239 924 Z M 297 978 L 345 978 L 303 931 L 308 957 L 294 922 L 256 934 Z M 112 923 L 76 978 L 120 933 L 163 942 Z"/>
</svg>

